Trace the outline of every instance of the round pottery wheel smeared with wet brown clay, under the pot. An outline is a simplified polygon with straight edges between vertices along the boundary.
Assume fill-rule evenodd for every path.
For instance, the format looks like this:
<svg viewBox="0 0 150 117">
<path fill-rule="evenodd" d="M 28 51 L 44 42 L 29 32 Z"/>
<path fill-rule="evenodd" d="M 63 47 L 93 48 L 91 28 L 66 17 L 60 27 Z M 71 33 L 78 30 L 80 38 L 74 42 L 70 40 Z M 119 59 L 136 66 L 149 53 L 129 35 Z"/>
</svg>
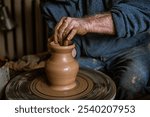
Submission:
<svg viewBox="0 0 150 117">
<path fill-rule="evenodd" d="M 80 69 L 76 87 L 67 91 L 53 90 L 47 84 L 44 69 L 21 73 L 6 86 L 6 98 L 27 99 L 114 99 L 116 86 L 107 75 L 91 70 Z"/>
</svg>

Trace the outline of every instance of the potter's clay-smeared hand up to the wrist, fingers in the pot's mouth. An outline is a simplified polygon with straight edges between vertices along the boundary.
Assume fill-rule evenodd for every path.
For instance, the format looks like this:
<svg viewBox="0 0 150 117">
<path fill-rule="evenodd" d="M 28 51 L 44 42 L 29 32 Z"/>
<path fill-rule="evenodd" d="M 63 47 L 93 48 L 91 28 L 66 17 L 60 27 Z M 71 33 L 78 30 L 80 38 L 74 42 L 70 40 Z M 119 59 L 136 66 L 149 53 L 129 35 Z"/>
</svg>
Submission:
<svg viewBox="0 0 150 117">
<path fill-rule="evenodd" d="M 55 28 L 55 43 L 64 45 L 65 41 L 72 40 L 76 34 L 85 35 L 88 25 L 89 22 L 86 18 L 63 17 Z"/>
</svg>

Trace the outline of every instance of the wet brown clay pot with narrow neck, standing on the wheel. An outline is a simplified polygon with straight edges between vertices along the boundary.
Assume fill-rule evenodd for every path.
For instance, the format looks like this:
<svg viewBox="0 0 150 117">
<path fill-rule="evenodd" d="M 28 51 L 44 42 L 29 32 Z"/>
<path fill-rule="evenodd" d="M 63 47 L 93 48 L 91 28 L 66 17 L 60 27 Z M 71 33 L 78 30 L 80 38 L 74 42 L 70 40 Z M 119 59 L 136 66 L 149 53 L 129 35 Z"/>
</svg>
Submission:
<svg viewBox="0 0 150 117">
<path fill-rule="evenodd" d="M 49 86 L 57 91 L 70 90 L 76 86 L 79 70 L 77 61 L 72 56 L 75 45 L 60 46 L 51 42 L 51 57 L 46 62 L 46 74 Z"/>
</svg>

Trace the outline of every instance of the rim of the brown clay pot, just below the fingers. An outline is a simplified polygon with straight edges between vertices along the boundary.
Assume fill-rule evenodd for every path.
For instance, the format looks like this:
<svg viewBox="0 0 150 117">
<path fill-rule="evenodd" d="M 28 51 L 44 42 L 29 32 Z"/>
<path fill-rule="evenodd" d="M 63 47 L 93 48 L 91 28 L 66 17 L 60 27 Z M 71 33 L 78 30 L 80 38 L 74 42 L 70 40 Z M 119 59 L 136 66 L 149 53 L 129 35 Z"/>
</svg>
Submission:
<svg viewBox="0 0 150 117">
<path fill-rule="evenodd" d="M 55 49 L 72 49 L 72 48 L 74 48 L 75 47 L 75 44 L 70 44 L 70 45 L 68 45 L 68 46 L 60 46 L 59 44 L 56 44 L 56 43 L 54 43 L 54 42 L 51 42 L 50 44 L 49 44 L 49 47 L 50 48 L 55 48 Z"/>
</svg>

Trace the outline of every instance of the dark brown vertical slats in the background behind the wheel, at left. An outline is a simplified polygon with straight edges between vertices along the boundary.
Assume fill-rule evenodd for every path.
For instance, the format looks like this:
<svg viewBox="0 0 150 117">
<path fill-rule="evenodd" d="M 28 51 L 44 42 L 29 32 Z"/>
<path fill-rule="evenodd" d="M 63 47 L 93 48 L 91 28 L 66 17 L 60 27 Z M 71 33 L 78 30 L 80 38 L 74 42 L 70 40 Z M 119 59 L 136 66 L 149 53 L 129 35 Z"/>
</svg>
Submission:
<svg viewBox="0 0 150 117">
<path fill-rule="evenodd" d="M 40 14 L 40 0 L 4 0 L 16 23 L 0 32 L 0 56 L 16 59 L 47 50 L 47 27 Z"/>
</svg>

